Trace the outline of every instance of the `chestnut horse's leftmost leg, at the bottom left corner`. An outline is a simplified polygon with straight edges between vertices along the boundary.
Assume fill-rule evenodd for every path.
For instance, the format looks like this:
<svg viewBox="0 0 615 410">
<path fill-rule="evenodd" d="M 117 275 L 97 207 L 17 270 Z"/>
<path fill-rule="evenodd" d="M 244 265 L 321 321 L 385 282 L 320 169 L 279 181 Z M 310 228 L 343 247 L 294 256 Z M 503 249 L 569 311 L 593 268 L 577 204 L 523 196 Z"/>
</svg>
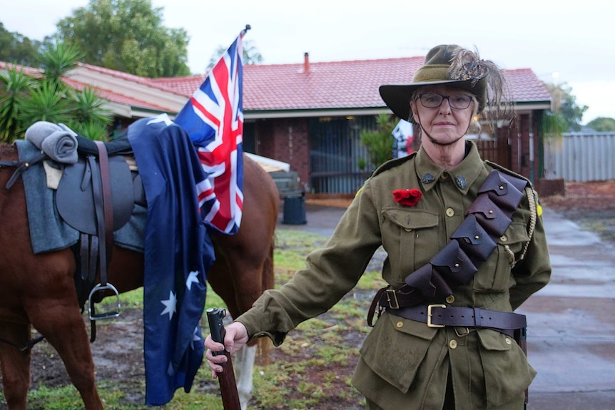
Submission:
<svg viewBox="0 0 615 410">
<path fill-rule="evenodd" d="M 9 410 L 26 410 L 26 397 L 30 388 L 30 349 L 21 352 L 14 344 L 30 340 L 29 323 L 0 322 L 0 365 L 4 398 Z"/>
</svg>

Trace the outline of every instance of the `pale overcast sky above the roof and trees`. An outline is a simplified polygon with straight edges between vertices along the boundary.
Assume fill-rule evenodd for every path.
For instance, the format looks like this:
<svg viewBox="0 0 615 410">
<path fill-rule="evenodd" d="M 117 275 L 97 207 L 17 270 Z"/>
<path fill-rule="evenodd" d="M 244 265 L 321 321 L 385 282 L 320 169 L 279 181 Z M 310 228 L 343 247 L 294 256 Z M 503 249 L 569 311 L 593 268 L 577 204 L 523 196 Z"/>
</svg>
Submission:
<svg viewBox="0 0 615 410">
<path fill-rule="evenodd" d="M 564 4 L 565 3 L 565 4 Z M 531 68 L 543 81 L 566 83 L 582 123 L 615 118 L 615 4 L 611 1 L 441 0 L 153 0 L 164 26 L 190 36 L 188 66 L 203 73 L 219 46 L 244 41 L 263 63 L 425 56 L 441 43 L 477 48 L 502 68 Z M 3 7 L 5 29 L 42 40 L 88 0 L 17 0 Z"/>
</svg>

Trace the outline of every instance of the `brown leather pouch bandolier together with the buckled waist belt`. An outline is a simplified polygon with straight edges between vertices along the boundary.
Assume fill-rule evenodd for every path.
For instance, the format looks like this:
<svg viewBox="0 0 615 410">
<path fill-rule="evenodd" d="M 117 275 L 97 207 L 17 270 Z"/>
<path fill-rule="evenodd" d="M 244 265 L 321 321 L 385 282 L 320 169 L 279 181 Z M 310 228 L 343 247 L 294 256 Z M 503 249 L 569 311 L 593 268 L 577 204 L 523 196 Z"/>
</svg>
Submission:
<svg viewBox="0 0 615 410">
<path fill-rule="evenodd" d="M 495 312 L 476 307 L 452 307 L 453 289 L 465 285 L 482 262 L 497 247 L 511 217 L 524 196 L 527 180 L 492 170 L 479 188 L 479 195 L 466 212 L 451 241 L 432 260 L 405 278 L 398 289 L 378 290 L 367 314 L 367 324 L 383 310 L 406 319 L 427 323 L 429 327 L 487 327 L 515 337 L 524 334 L 525 316 Z M 521 336 L 520 336 L 521 335 Z"/>
</svg>

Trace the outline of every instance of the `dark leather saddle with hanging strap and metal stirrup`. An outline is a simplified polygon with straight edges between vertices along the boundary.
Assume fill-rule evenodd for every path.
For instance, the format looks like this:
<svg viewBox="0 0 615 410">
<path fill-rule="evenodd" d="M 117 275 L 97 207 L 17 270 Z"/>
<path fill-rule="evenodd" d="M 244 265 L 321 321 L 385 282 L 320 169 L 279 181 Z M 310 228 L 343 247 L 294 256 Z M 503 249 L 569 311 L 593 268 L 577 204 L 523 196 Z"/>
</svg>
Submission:
<svg viewBox="0 0 615 410">
<path fill-rule="evenodd" d="M 80 232 L 73 248 L 78 263 L 75 277 L 79 304 L 89 301 L 89 319 L 117 317 L 120 314 L 118 290 L 107 282 L 113 231 L 130 220 L 135 203 L 146 205 L 141 177 L 131 172 L 126 155 L 132 153 L 128 138 L 111 143 L 78 138 L 78 161 L 64 165 L 56 190 L 56 207 L 62 219 Z M 101 280 L 94 285 L 96 272 Z M 117 308 L 96 313 L 95 304 L 111 292 Z M 91 341 L 96 337 L 92 326 Z"/>
</svg>

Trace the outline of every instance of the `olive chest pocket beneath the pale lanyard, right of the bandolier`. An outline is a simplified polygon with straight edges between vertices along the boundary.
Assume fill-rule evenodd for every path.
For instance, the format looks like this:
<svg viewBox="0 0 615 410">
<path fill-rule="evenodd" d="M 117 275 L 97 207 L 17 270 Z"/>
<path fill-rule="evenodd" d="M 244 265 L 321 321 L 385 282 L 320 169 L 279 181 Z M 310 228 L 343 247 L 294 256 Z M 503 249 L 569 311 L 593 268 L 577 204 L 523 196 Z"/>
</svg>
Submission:
<svg viewBox="0 0 615 410">
<path fill-rule="evenodd" d="M 497 240 L 497 248 L 474 275 L 473 289 L 477 292 L 506 292 L 510 287 L 510 271 L 515 255 L 529 242 L 524 222 L 512 222 L 506 233 Z"/>
</svg>

